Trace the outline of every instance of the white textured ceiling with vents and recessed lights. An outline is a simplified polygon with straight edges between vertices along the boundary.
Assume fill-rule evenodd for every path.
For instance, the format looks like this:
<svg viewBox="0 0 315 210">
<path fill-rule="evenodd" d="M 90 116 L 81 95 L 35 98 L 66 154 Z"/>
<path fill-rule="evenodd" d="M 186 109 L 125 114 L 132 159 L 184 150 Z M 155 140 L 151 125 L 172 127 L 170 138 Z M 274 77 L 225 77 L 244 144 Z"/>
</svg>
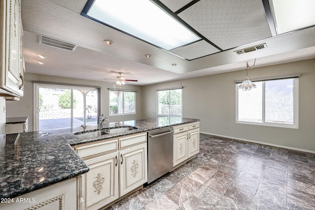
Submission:
<svg viewBox="0 0 315 210">
<path fill-rule="evenodd" d="M 123 72 L 139 81 L 132 84 L 149 85 L 241 70 L 253 59 L 259 67 L 315 58 L 315 27 L 272 36 L 259 0 L 154 1 L 202 40 L 168 52 L 81 16 L 87 0 L 22 0 L 26 72 L 104 82 Z M 73 52 L 48 47 L 38 43 L 39 34 L 78 47 Z M 106 39 L 113 44 L 104 45 Z M 262 43 L 268 47 L 234 53 Z M 44 65 L 35 62 L 36 54 L 48 56 Z"/>
</svg>

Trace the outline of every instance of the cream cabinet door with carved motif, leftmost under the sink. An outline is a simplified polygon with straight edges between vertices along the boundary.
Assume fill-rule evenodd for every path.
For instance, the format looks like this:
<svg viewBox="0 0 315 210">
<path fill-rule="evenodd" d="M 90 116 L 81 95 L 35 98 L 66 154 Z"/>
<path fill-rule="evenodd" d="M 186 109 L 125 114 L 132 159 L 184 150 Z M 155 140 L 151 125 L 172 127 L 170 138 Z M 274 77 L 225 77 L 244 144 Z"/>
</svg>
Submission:
<svg viewBox="0 0 315 210">
<path fill-rule="evenodd" d="M 85 210 L 97 210 L 119 198 L 118 152 L 86 160 L 90 171 L 83 176 Z"/>
</svg>

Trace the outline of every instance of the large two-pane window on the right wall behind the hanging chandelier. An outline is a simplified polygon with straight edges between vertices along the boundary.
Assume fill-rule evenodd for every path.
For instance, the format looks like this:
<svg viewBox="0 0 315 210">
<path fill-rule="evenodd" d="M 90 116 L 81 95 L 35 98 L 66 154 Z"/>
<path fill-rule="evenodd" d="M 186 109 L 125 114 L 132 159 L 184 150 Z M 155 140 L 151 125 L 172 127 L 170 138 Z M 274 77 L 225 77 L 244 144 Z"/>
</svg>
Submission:
<svg viewBox="0 0 315 210">
<path fill-rule="evenodd" d="M 298 128 L 298 78 L 254 82 L 250 91 L 237 89 L 238 123 Z"/>
</svg>

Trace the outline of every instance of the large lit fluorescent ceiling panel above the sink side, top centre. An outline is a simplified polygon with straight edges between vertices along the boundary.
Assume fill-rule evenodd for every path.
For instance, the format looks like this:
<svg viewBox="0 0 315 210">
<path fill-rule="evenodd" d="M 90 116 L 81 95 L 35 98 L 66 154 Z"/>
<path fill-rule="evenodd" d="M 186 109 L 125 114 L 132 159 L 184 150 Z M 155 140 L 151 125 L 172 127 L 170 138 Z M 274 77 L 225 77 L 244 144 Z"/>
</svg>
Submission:
<svg viewBox="0 0 315 210">
<path fill-rule="evenodd" d="M 166 50 L 200 39 L 150 0 L 95 0 L 87 16 Z"/>
</svg>

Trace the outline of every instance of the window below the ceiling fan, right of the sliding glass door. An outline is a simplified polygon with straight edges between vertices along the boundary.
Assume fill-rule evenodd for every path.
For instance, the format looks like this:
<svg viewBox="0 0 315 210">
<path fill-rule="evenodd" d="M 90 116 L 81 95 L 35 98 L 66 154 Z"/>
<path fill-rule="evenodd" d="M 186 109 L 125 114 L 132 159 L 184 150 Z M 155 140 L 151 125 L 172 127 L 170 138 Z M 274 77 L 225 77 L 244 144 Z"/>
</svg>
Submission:
<svg viewBox="0 0 315 210">
<path fill-rule="evenodd" d="M 109 90 L 109 115 L 136 113 L 136 93 L 133 91 Z"/>
</svg>

